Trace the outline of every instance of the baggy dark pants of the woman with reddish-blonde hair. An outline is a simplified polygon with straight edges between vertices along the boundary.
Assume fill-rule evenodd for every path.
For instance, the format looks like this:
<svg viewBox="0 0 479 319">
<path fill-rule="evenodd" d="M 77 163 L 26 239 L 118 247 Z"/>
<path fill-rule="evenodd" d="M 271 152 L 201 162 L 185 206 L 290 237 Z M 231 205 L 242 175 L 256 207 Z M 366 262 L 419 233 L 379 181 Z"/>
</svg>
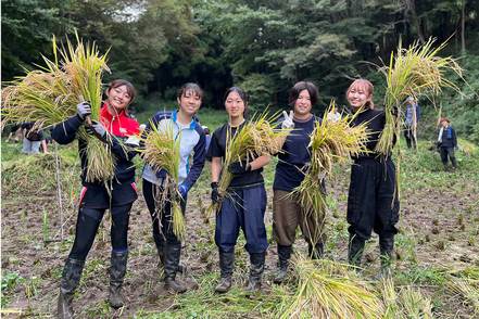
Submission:
<svg viewBox="0 0 479 319">
<path fill-rule="evenodd" d="M 348 196 L 350 234 L 365 241 L 374 230 L 380 239 L 393 238 L 399 208 L 394 163 L 390 158 L 356 160 Z"/>
</svg>

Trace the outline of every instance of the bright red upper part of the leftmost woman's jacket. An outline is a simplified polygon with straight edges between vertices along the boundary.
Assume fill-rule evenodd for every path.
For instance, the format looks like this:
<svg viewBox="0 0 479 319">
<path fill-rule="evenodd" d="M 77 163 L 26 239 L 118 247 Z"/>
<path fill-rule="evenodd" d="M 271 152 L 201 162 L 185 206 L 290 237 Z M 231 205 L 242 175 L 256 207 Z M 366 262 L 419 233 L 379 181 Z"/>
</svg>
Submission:
<svg viewBox="0 0 479 319">
<path fill-rule="evenodd" d="M 105 129 L 115 137 L 124 138 L 140 132 L 140 127 L 136 119 L 126 115 L 124 110 L 118 115 L 110 114 L 106 103 L 103 103 L 100 110 L 100 118 Z"/>
</svg>

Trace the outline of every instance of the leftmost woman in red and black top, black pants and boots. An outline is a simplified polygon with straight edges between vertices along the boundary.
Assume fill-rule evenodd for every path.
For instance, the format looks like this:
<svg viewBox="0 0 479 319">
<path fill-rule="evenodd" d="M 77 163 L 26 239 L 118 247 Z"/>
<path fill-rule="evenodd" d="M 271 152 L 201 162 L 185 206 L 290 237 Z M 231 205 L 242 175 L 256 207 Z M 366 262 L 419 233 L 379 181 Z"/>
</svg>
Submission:
<svg viewBox="0 0 479 319">
<path fill-rule="evenodd" d="M 81 161 L 81 184 L 75 241 L 63 268 L 58 303 L 59 318 L 72 318 L 72 299 L 78 286 L 88 252 L 103 218 L 104 212 L 112 214 L 111 227 L 111 268 L 110 268 L 110 305 L 123 306 L 121 289 L 126 273 L 128 257 L 127 232 L 129 212 L 138 197 L 135 186 L 135 167 L 131 162 L 136 152 L 125 146 L 138 144 L 135 135 L 139 133 L 138 123 L 128 116 L 127 107 L 135 98 L 134 86 L 122 79 L 114 80 L 106 89 L 108 99 L 100 113 L 100 123 L 92 123 L 87 131 L 111 149 L 115 156 L 114 177 L 112 180 L 87 181 L 87 142 L 78 138 L 78 152 Z M 60 144 L 68 144 L 77 137 L 78 129 L 86 125 L 91 114 L 88 102 L 77 105 L 77 114 L 52 129 L 52 138 Z M 108 133 L 110 137 L 106 138 Z"/>
</svg>

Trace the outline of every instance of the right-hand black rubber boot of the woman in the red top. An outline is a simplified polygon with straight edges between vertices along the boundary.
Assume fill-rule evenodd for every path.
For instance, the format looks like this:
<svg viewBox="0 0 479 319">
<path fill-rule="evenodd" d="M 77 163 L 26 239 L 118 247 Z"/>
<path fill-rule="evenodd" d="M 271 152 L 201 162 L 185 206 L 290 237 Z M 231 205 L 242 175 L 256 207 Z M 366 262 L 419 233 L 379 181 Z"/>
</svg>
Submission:
<svg viewBox="0 0 479 319">
<path fill-rule="evenodd" d="M 109 302 L 112 308 L 123 307 L 124 299 L 122 295 L 123 279 L 126 273 L 126 263 L 128 260 L 128 252 L 112 252 L 110 266 L 110 295 Z"/>
</svg>

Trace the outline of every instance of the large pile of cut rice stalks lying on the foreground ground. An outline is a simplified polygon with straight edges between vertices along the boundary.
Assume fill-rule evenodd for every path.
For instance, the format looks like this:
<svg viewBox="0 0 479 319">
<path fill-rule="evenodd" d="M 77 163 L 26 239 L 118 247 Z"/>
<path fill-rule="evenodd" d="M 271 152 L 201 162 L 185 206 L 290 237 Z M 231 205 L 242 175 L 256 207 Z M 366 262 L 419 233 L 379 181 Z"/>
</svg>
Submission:
<svg viewBox="0 0 479 319">
<path fill-rule="evenodd" d="M 348 265 L 297 257 L 298 290 L 285 298 L 279 318 L 380 318 L 383 308 L 374 290 Z"/>
</svg>

